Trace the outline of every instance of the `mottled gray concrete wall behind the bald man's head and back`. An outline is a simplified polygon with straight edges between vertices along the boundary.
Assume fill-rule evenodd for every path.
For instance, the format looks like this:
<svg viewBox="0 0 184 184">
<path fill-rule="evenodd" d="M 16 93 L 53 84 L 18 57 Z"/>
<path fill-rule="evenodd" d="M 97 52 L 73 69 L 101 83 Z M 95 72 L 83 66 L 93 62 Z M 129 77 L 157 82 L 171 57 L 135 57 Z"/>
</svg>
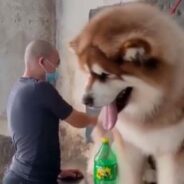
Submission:
<svg viewBox="0 0 184 184">
<path fill-rule="evenodd" d="M 0 132 L 12 84 L 23 72 L 25 46 L 32 39 L 55 43 L 54 0 L 0 0 Z"/>
</svg>

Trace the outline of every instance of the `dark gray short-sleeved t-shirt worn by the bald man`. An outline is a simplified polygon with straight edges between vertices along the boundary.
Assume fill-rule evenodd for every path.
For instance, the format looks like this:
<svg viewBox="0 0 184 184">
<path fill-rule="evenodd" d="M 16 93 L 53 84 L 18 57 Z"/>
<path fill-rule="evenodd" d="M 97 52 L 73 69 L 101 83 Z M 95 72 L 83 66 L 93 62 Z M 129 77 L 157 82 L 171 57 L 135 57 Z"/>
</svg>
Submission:
<svg viewBox="0 0 184 184">
<path fill-rule="evenodd" d="M 60 169 L 59 119 L 72 112 L 48 82 L 20 78 L 7 106 L 15 155 L 10 170 L 33 181 L 56 178 Z"/>
</svg>

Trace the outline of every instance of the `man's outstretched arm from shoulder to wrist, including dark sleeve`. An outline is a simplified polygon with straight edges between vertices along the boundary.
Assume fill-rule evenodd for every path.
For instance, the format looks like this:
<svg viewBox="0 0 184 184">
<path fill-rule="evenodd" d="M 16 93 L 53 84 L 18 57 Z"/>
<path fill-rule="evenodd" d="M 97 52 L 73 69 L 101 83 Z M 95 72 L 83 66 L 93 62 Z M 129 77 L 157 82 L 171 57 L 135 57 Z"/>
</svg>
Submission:
<svg viewBox="0 0 184 184">
<path fill-rule="evenodd" d="M 40 82 L 36 87 L 43 107 L 48 108 L 58 119 L 65 120 L 76 128 L 96 125 L 97 118 L 90 117 L 83 112 L 73 109 L 49 83 Z"/>
</svg>

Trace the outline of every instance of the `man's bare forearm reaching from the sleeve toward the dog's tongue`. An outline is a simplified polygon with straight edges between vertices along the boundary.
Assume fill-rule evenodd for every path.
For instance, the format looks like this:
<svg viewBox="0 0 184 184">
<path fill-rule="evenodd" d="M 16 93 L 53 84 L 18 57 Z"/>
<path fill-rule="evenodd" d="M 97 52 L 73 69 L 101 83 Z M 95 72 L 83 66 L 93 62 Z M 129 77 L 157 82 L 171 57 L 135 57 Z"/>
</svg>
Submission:
<svg viewBox="0 0 184 184">
<path fill-rule="evenodd" d="M 73 109 L 72 113 L 65 119 L 67 123 L 76 128 L 85 128 L 88 125 L 96 125 L 97 117 L 90 117 L 83 112 Z"/>
</svg>

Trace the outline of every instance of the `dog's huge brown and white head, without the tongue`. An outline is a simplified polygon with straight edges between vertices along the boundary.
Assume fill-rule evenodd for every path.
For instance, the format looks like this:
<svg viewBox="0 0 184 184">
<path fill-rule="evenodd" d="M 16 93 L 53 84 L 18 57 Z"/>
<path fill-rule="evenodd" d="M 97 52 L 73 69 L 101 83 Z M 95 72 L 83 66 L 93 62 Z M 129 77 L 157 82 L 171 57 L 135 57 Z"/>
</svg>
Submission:
<svg viewBox="0 0 184 184">
<path fill-rule="evenodd" d="M 98 13 L 71 42 L 90 75 L 84 103 L 104 106 L 116 100 L 134 115 L 153 113 L 173 80 L 175 27 L 157 8 L 142 3 Z"/>
</svg>

